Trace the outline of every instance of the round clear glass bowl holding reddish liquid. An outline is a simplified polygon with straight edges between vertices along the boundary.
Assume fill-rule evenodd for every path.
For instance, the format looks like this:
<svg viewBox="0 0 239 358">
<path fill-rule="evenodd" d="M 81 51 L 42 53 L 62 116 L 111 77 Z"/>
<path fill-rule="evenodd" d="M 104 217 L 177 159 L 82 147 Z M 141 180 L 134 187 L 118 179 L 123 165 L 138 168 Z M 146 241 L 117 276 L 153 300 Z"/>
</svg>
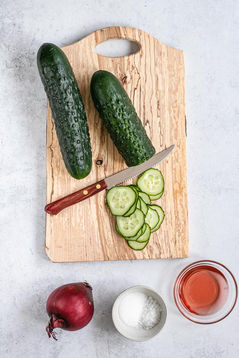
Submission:
<svg viewBox="0 0 239 358">
<path fill-rule="evenodd" d="M 206 266 L 209 271 L 203 271 L 202 268 L 204 266 Z M 210 274 L 205 274 L 205 272 L 210 271 L 212 272 L 212 276 L 218 275 L 215 276 L 216 280 L 217 277 L 219 277 L 218 282 L 214 277 L 210 278 Z M 202 272 L 202 274 L 201 276 L 194 276 L 193 278 L 195 272 Z M 214 272 L 216 272 L 216 274 L 214 274 Z M 202 280 L 205 279 L 209 284 L 209 292 L 210 289 L 212 289 L 211 296 L 210 294 L 207 295 L 207 291 L 203 291 L 204 293 L 201 294 L 200 284 L 205 284 L 205 281 L 202 282 Z M 201 304 L 198 304 L 197 301 L 195 301 L 195 303 L 193 301 L 193 295 L 199 297 L 198 295 L 200 294 Z M 233 274 L 224 265 L 215 261 L 202 260 L 191 263 L 180 272 L 175 281 L 173 295 L 176 306 L 183 316 L 195 323 L 210 324 L 221 321 L 231 313 L 236 304 L 238 288 Z M 191 300 L 193 307 L 196 307 L 196 309 L 192 309 L 190 304 L 187 303 L 187 297 Z M 203 302 L 205 297 L 208 301 Z M 197 305 L 199 305 L 198 309 Z M 197 313 L 195 313 L 195 311 Z"/>
</svg>

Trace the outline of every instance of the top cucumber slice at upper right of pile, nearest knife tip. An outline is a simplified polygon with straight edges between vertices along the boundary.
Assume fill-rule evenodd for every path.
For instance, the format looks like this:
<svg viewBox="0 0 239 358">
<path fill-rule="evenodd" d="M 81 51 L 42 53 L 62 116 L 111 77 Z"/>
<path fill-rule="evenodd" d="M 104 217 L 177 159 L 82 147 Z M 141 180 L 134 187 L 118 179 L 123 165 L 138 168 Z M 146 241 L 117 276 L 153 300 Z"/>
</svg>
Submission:
<svg viewBox="0 0 239 358">
<path fill-rule="evenodd" d="M 158 195 L 164 188 L 163 175 L 158 169 L 148 169 L 138 178 L 137 185 L 148 195 Z"/>
</svg>

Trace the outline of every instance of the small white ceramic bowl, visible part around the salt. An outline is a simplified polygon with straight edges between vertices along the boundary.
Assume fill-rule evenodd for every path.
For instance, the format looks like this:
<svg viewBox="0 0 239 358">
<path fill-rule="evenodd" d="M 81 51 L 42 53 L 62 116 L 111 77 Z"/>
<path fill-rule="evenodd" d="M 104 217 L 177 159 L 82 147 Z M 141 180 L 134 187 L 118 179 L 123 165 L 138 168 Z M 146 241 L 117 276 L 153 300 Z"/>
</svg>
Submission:
<svg viewBox="0 0 239 358">
<path fill-rule="evenodd" d="M 162 308 L 161 318 L 160 318 L 159 323 L 157 323 L 153 328 L 151 328 L 149 330 L 146 330 L 143 328 L 128 327 L 128 326 L 126 326 L 126 324 L 124 324 L 121 321 L 121 319 L 119 317 L 119 305 L 120 305 L 120 302 L 123 299 L 124 295 L 129 292 L 135 292 L 135 291 L 144 292 L 146 295 L 152 296 L 154 300 L 158 301 L 158 304 Z M 130 287 L 129 289 L 123 291 L 116 298 L 114 305 L 113 305 L 113 309 L 112 309 L 113 322 L 114 322 L 115 328 L 118 330 L 118 332 L 120 334 L 122 334 L 125 338 L 135 340 L 138 342 L 143 342 L 145 340 L 149 340 L 149 339 L 156 337 L 156 335 L 159 334 L 159 332 L 161 332 L 161 330 L 163 329 L 163 327 L 167 321 L 167 316 L 168 316 L 168 312 L 167 312 L 167 307 L 166 307 L 166 303 L 164 302 L 164 299 L 158 294 L 158 292 L 154 291 L 153 289 L 151 289 L 150 287 L 147 287 L 147 286 L 134 286 L 134 287 Z"/>
</svg>

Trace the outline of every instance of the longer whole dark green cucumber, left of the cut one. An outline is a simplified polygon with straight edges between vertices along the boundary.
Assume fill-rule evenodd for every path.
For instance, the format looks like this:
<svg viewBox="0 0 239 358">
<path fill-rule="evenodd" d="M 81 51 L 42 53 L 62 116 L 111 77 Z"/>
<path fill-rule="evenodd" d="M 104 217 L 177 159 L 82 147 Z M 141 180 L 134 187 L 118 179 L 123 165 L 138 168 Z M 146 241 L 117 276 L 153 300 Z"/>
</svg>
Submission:
<svg viewBox="0 0 239 358">
<path fill-rule="evenodd" d="M 75 179 L 85 178 L 92 166 L 90 134 L 72 67 L 64 52 L 51 43 L 39 48 L 37 66 L 66 169 Z"/>
</svg>

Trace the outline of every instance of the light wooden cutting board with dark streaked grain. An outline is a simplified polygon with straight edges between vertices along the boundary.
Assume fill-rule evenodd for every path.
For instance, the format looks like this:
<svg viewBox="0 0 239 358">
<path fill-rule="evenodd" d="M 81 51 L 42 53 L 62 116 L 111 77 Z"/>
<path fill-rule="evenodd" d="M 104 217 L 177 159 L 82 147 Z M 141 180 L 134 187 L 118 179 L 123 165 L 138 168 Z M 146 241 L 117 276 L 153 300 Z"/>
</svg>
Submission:
<svg viewBox="0 0 239 358">
<path fill-rule="evenodd" d="M 110 39 L 128 39 L 139 52 L 125 57 L 104 57 L 94 47 Z M 161 205 L 165 218 L 142 251 L 132 250 L 115 231 L 115 217 L 105 202 L 106 190 L 64 209 L 46 214 L 45 250 L 53 262 L 135 260 L 188 257 L 188 205 L 185 117 L 184 54 L 149 34 L 128 27 L 108 27 L 63 47 L 85 105 L 92 146 L 92 171 L 73 179 L 64 166 L 56 131 L 47 105 L 47 203 L 126 169 L 95 110 L 90 94 L 92 74 L 104 69 L 123 84 L 156 153 L 175 144 L 175 149 L 156 168 L 165 187 Z M 126 182 L 136 183 L 137 178 Z"/>
</svg>

